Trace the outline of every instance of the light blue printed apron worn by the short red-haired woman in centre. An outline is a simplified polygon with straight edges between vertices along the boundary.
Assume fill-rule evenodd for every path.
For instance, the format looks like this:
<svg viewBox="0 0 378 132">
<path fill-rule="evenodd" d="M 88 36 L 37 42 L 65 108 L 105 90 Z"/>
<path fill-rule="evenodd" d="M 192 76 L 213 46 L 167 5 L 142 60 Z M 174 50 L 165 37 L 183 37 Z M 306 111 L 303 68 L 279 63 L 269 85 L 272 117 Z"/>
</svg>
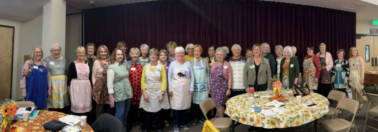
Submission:
<svg viewBox="0 0 378 132">
<path fill-rule="evenodd" d="M 192 95 L 192 102 L 195 104 L 200 104 L 202 100 L 208 98 L 208 74 L 203 67 L 202 58 L 201 66 L 196 66 L 195 58 L 194 60 L 194 92 Z"/>
</svg>

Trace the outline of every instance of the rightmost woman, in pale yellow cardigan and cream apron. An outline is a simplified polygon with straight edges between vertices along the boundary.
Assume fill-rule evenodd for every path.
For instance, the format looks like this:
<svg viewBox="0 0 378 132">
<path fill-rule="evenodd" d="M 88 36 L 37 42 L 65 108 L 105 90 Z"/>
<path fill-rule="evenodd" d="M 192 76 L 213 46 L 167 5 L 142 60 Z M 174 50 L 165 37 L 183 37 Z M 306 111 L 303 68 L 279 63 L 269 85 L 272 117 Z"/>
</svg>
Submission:
<svg viewBox="0 0 378 132">
<path fill-rule="evenodd" d="M 351 80 L 349 84 L 360 83 L 361 85 L 364 84 L 364 59 L 359 56 L 359 52 L 356 47 L 351 47 L 349 50 L 349 79 Z M 353 100 L 357 100 L 357 91 L 355 89 L 352 90 L 352 97 Z M 360 91 L 362 92 L 362 91 Z M 363 105 L 361 104 L 359 109 L 362 109 Z"/>
</svg>

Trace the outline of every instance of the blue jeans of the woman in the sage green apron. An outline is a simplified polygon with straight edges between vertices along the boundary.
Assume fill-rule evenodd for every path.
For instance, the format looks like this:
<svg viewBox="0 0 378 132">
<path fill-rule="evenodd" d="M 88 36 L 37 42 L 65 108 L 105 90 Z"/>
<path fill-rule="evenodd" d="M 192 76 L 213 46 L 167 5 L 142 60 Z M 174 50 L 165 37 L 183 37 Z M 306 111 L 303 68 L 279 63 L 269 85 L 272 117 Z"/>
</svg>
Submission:
<svg viewBox="0 0 378 132">
<path fill-rule="evenodd" d="M 129 113 L 129 109 L 130 109 L 130 100 L 131 100 L 131 98 L 128 98 L 124 101 L 115 102 L 115 106 L 116 106 L 116 116 L 115 117 L 118 118 L 120 121 L 122 121 L 123 126 L 125 127 L 125 130 L 127 129 L 126 128 L 127 113 Z"/>
</svg>

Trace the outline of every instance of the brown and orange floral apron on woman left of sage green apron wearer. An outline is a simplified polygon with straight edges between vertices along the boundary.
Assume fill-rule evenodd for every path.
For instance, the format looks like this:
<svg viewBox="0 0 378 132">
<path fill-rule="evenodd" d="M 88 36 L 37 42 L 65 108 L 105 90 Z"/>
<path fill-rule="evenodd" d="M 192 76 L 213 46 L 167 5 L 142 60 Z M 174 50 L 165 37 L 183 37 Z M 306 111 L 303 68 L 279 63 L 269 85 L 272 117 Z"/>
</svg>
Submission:
<svg viewBox="0 0 378 132">
<path fill-rule="evenodd" d="M 92 98 L 98 104 L 109 104 L 109 94 L 107 86 L 108 64 L 99 61 L 102 69 L 102 77 L 96 77 L 95 84 L 93 84 Z"/>
</svg>

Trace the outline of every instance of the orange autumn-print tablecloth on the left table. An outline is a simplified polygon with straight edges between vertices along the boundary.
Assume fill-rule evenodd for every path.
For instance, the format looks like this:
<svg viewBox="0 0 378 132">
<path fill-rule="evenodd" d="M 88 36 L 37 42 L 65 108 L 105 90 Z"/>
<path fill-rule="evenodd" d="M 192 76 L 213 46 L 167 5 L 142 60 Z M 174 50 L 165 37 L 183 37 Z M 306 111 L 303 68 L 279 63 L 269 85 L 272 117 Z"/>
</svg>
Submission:
<svg viewBox="0 0 378 132">
<path fill-rule="evenodd" d="M 29 119 L 28 121 L 23 121 L 22 118 L 16 119 L 11 126 L 21 126 L 28 129 L 31 132 L 47 132 L 48 130 L 43 129 L 43 124 L 51 120 L 59 120 L 59 118 L 67 116 L 67 114 L 56 112 L 56 111 L 43 111 L 38 110 L 39 113 L 35 119 Z M 76 126 L 79 126 L 77 123 Z M 80 127 L 80 126 L 79 126 Z M 59 130 L 61 132 L 62 130 Z M 93 132 L 93 129 L 89 124 L 81 129 L 81 132 Z"/>
</svg>

